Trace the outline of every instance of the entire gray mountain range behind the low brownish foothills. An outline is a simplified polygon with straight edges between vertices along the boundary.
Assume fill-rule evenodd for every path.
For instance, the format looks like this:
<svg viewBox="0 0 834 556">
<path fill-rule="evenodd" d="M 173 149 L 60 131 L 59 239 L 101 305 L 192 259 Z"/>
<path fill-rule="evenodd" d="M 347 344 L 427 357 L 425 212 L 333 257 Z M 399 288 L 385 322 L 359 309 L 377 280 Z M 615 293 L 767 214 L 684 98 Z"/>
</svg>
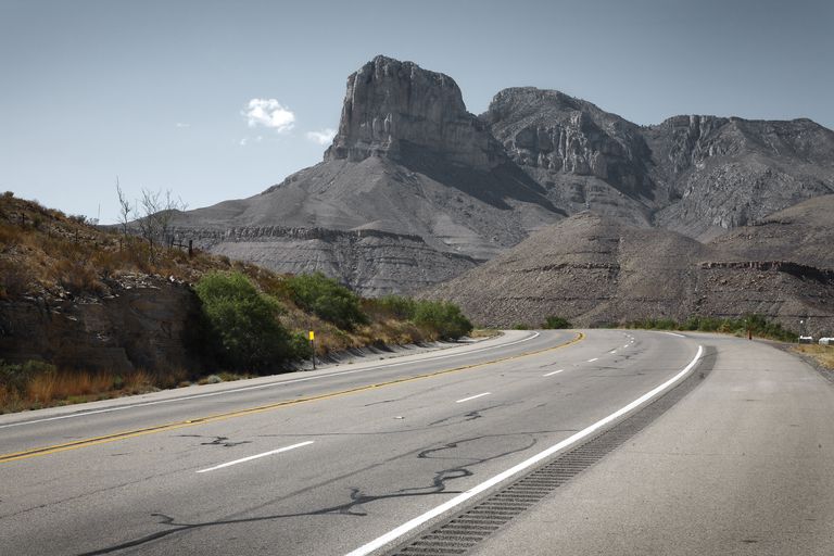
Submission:
<svg viewBox="0 0 834 556">
<path fill-rule="evenodd" d="M 456 276 L 583 211 L 707 241 L 833 192 L 834 132 L 807 119 L 643 127 L 531 87 L 476 116 L 451 77 L 377 56 L 348 78 L 321 163 L 175 224 L 212 252 L 377 295 Z"/>
</svg>

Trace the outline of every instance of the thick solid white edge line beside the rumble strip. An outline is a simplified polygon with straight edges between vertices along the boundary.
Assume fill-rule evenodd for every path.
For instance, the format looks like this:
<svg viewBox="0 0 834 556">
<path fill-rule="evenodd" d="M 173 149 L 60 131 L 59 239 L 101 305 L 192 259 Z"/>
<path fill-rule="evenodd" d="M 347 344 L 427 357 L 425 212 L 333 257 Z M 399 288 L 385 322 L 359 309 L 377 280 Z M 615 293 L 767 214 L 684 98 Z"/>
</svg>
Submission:
<svg viewBox="0 0 834 556">
<path fill-rule="evenodd" d="M 635 407 L 642 405 L 643 403 L 647 402 L 648 400 L 655 397 L 657 394 L 662 392 L 664 390 L 667 390 L 671 386 L 673 386 L 675 382 L 679 382 L 685 375 L 687 375 L 698 363 L 700 359 L 700 356 L 704 354 L 704 346 L 698 345 L 698 353 L 695 354 L 695 358 L 690 362 L 686 367 L 683 368 L 679 374 L 664 382 L 662 384 L 656 387 L 655 389 L 650 390 L 649 392 L 646 392 L 642 396 L 637 397 L 633 402 L 631 402 L 629 405 L 616 410 L 615 413 L 610 414 L 608 417 L 605 417 L 595 424 L 591 425 L 590 427 L 582 429 L 581 431 L 577 432 L 576 434 L 568 437 L 567 439 L 563 440 L 561 442 L 558 442 L 557 444 L 554 444 L 553 446 L 548 447 L 547 450 L 540 452 L 539 454 L 525 459 L 520 464 L 510 467 L 504 472 L 501 472 L 496 475 L 495 477 L 488 479 L 486 481 L 472 486 L 468 491 L 463 492 L 462 494 L 458 494 L 454 498 L 441 504 L 440 506 L 437 506 L 429 511 L 426 511 L 421 516 L 418 516 L 409 521 L 406 521 L 402 526 L 397 527 L 396 529 L 392 529 L 388 533 L 383 534 L 382 536 L 379 536 L 372 541 L 370 541 L 367 544 L 364 544 L 356 548 L 355 551 L 351 551 L 346 554 L 346 556 L 366 556 L 370 554 L 371 552 L 376 551 L 377 548 L 381 548 L 382 546 L 387 545 L 390 542 L 395 541 L 400 536 L 403 536 L 404 534 L 408 533 L 409 531 L 413 531 L 414 529 L 420 527 L 425 522 L 434 519 L 435 517 L 448 511 L 450 509 L 454 508 L 455 506 L 459 506 L 464 502 L 468 501 L 469 498 L 480 494 L 481 492 L 509 479 L 510 477 L 518 475 L 519 472 L 526 470 L 527 468 L 538 464 L 542 459 L 555 454 L 556 452 L 559 452 L 571 444 L 574 444 L 579 442 L 580 440 L 584 439 L 585 437 L 589 437 L 590 434 L 596 432 L 602 427 L 608 425 L 609 422 L 614 421 L 615 419 L 626 415 L 627 413 L 631 412 Z"/>
</svg>

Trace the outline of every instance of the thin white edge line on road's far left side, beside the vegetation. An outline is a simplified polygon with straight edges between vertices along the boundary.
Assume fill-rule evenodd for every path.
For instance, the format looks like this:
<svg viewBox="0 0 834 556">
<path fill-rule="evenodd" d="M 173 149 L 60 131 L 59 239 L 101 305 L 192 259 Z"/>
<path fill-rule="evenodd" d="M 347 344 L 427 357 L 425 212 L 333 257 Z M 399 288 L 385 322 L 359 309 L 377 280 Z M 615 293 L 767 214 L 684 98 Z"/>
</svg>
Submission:
<svg viewBox="0 0 834 556">
<path fill-rule="evenodd" d="M 223 391 L 219 391 L 219 392 L 206 392 L 204 394 L 193 394 L 193 395 L 187 395 L 187 396 L 181 396 L 181 397 L 172 397 L 172 399 L 168 399 L 168 400 L 157 400 L 155 402 L 140 402 L 140 403 L 137 403 L 137 404 L 119 405 L 117 407 L 105 407 L 103 409 L 92 409 L 92 410 L 89 410 L 89 412 L 81 410 L 81 412 L 72 413 L 72 414 L 68 414 L 68 415 L 56 415 L 55 417 L 45 417 L 42 419 L 35 419 L 35 420 L 30 420 L 30 421 L 9 422 L 7 425 L 0 425 L 0 429 L 7 429 L 7 428 L 11 428 L 11 427 L 22 427 L 24 425 L 37 425 L 39 422 L 56 421 L 56 420 L 62 420 L 62 419 L 72 419 L 72 418 L 75 418 L 75 417 L 87 417 L 89 415 L 99 415 L 99 414 L 103 414 L 103 413 L 123 412 L 125 409 L 134 409 L 136 407 L 146 407 L 146 406 L 151 406 L 151 405 L 169 404 L 169 403 L 174 403 L 174 402 L 188 402 L 190 400 L 199 400 L 201 397 L 213 397 L 213 396 L 216 396 L 216 395 L 236 394 L 238 392 L 247 392 L 247 391 L 250 391 L 250 390 L 262 390 L 264 388 L 274 388 L 274 387 L 280 387 L 280 386 L 285 386 L 285 384 L 295 384 L 298 382 L 306 382 L 308 380 L 320 380 L 320 379 L 330 378 L 330 377 L 341 377 L 342 375 L 353 375 L 355 372 L 367 372 L 367 371 L 370 371 L 370 370 L 379 370 L 379 369 L 384 369 L 384 368 L 389 368 L 389 367 L 399 367 L 399 366 L 402 366 L 402 365 L 409 365 L 409 364 L 414 364 L 414 363 L 424 363 L 424 362 L 431 362 L 431 361 L 437 361 L 437 359 L 447 359 L 448 357 L 457 357 L 457 356 L 460 356 L 460 355 L 469 355 L 469 354 L 472 354 L 472 353 L 485 352 L 485 351 L 493 350 L 493 349 L 496 349 L 496 348 L 509 348 L 510 345 L 516 345 L 516 344 L 519 344 L 519 343 L 523 343 L 523 342 L 533 340 L 535 338 L 539 338 L 540 336 L 541 336 L 541 332 L 533 332 L 532 334 L 528 336 L 527 338 L 522 338 L 520 340 L 515 340 L 515 341 L 509 342 L 509 343 L 502 343 L 502 344 L 498 344 L 498 345 L 490 345 L 490 346 L 486 346 L 486 348 L 482 348 L 480 350 L 472 350 L 470 352 L 452 353 L 452 354 L 446 354 L 446 355 L 438 355 L 435 357 L 427 357 L 425 359 L 419 359 L 419 361 L 404 361 L 404 362 L 397 362 L 397 363 L 388 363 L 388 364 L 384 364 L 384 365 L 375 365 L 375 366 L 368 367 L 366 369 L 342 370 L 342 371 L 339 371 L 339 372 L 330 372 L 328 375 L 317 375 L 315 377 L 305 377 L 305 378 L 296 378 L 296 379 L 292 379 L 292 380 L 281 380 L 281 381 L 278 381 L 278 382 L 269 382 L 268 384 L 256 384 L 256 386 L 252 386 L 252 387 L 241 387 L 241 388 L 235 388 L 235 389 L 231 389 L 231 390 L 223 390 Z"/>
</svg>

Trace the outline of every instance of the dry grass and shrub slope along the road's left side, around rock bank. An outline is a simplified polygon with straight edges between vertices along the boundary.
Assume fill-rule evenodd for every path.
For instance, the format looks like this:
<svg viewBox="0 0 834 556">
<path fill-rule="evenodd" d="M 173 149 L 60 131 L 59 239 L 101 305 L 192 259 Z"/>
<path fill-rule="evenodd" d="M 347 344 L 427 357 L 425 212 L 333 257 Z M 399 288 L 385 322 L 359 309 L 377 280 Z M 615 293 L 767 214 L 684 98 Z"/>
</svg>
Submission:
<svg viewBox="0 0 834 556">
<path fill-rule="evenodd" d="M 279 275 L 189 252 L 170 228 L 172 212 L 184 203 L 169 192 L 147 191 L 130 203 L 117 189 L 122 222 L 108 228 L 0 194 L 0 304 L 90 302 L 136 276 L 185 283 L 200 300 L 192 341 L 201 365 L 93 372 L 52 361 L 11 361 L 0 352 L 0 413 L 293 370 L 312 355 L 309 330 L 319 358 L 371 345 L 456 340 L 472 331 L 450 303 L 363 299 L 321 274 Z"/>
</svg>

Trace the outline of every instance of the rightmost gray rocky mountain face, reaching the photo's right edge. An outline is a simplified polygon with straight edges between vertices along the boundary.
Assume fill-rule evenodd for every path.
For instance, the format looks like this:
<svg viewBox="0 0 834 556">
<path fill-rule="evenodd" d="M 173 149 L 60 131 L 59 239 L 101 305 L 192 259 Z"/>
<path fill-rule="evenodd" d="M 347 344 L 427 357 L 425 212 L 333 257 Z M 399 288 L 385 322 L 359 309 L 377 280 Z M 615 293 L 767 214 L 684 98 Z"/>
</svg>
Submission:
<svg viewBox="0 0 834 556">
<path fill-rule="evenodd" d="M 810 122 L 678 116 L 645 131 L 672 201 L 656 224 L 710 238 L 834 192 L 834 132 Z"/>
</svg>

